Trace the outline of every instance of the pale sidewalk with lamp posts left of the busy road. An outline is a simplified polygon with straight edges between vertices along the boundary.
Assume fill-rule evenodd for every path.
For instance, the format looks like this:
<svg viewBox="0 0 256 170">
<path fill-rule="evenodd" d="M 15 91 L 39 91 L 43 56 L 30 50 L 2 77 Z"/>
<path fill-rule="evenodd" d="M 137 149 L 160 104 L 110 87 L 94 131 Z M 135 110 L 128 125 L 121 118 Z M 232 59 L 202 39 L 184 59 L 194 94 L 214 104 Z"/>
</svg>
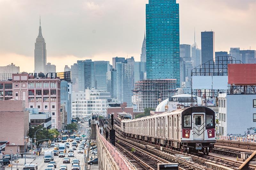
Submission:
<svg viewBox="0 0 256 170">
<path fill-rule="evenodd" d="M 42 153 L 45 151 L 45 150 L 48 150 L 50 147 L 48 147 L 48 148 L 42 148 Z M 34 153 L 34 151 L 33 151 L 33 153 Z M 43 155 L 42 154 L 40 154 L 40 156 L 35 156 L 34 154 L 33 154 L 33 156 L 32 156 L 32 158 L 31 158 L 31 152 L 27 152 L 26 153 L 26 164 L 30 164 L 30 163 L 32 163 L 37 157 L 42 157 Z M 16 161 L 16 160 L 14 160 L 14 161 Z M 4 168 L 5 169 L 12 169 L 12 170 L 16 170 L 16 167 L 18 167 L 18 169 L 19 170 L 22 170 L 23 169 L 23 167 L 24 167 L 24 164 L 25 164 L 25 154 L 23 153 L 23 158 L 21 158 L 21 155 L 19 155 L 19 157 L 18 157 L 18 164 L 17 163 L 15 163 L 14 161 L 12 161 L 12 167 L 8 167 L 8 165 L 4 165 Z M 18 166 L 17 166 L 18 165 Z"/>
</svg>

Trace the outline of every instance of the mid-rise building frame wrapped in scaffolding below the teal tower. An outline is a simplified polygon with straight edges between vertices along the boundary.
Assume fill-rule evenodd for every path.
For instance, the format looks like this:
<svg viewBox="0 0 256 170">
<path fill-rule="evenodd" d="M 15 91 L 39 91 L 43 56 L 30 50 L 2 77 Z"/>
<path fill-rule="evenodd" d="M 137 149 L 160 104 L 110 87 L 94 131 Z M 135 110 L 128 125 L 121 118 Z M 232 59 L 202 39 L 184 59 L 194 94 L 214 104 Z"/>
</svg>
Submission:
<svg viewBox="0 0 256 170">
<path fill-rule="evenodd" d="M 134 84 L 133 104 L 137 111 L 144 108 L 156 108 L 163 100 L 174 96 L 176 92 L 176 79 L 142 80 Z"/>
</svg>

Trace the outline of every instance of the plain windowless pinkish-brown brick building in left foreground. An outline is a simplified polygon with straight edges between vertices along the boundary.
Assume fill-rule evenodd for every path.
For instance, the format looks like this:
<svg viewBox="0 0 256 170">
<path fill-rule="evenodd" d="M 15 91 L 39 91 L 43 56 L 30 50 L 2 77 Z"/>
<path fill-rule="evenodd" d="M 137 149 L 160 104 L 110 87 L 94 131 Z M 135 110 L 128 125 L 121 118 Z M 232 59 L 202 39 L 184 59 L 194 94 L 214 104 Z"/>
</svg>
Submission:
<svg viewBox="0 0 256 170">
<path fill-rule="evenodd" d="M 1 150 L 2 153 L 10 154 L 12 149 L 12 153 L 16 154 L 17 145 L 19 152 L 24 152 L 24 137 L 29 124 L 28 117 L 29 113 L 25 111 L 25 101 L 0 101 L 0 145 L 6 142 L 14 144 L 6 146 Z"/>
</svg>

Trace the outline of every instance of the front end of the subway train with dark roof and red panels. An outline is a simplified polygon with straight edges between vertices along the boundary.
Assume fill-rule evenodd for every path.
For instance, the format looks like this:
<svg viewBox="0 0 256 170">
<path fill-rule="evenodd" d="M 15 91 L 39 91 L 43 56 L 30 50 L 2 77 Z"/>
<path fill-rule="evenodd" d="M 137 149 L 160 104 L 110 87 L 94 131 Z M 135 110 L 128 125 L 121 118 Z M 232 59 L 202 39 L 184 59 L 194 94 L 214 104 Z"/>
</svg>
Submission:
<svg viewBox="0 0 256 170">
<path fill-rule="evenodd" d="M 189 107 L 181 112 L 182 149 L 209 154 L 215 140 L 215 112 L 207 107 Z"/>
</svg>

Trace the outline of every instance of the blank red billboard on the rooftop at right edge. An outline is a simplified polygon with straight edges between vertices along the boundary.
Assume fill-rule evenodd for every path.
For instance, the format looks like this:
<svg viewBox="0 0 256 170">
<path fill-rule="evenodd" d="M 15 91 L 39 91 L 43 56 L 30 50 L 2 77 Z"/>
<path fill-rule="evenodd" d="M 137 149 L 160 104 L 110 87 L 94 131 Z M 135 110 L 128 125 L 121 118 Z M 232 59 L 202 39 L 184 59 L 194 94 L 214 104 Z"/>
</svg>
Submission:
<svg viewBox="0 0 256 170">
<path fill-rule="evenodd" d="M 256 64 L 228 64 L 228 84 L 256 84 Z"/>
</svg>

